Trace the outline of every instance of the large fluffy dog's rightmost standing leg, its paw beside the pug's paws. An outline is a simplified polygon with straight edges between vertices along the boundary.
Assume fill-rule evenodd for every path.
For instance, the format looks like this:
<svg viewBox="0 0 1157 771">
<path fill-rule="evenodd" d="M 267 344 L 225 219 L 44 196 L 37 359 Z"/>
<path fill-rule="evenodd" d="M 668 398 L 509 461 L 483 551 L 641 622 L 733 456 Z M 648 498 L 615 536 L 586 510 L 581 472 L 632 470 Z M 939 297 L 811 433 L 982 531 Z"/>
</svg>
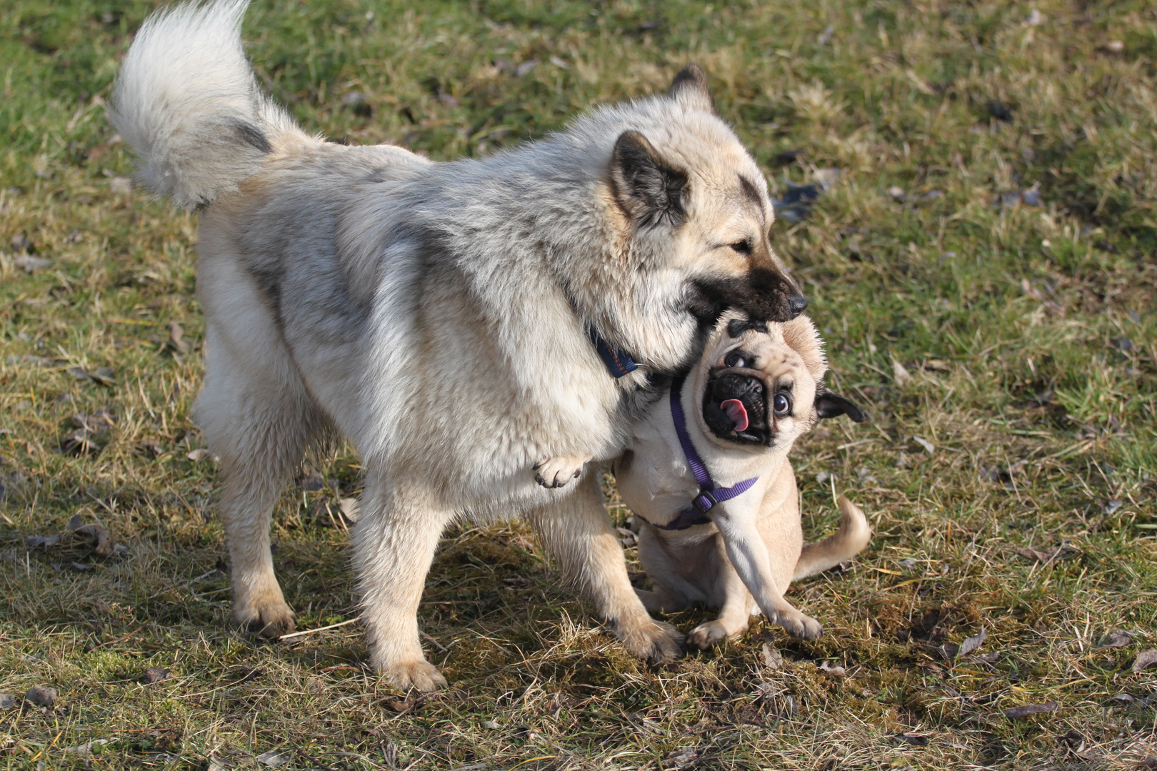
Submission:
<svg viewBox="0 0 1157 771">
<path fill-rule="evenodd" d="M 595 602 L 628 651 L 653 661 L 683 654 L 683 633 L 651 618 L 631 586 L 598 474 L 588 474 L 572 495 L 529 512 L 528 519 L 563 574 Z"/>
</svg>

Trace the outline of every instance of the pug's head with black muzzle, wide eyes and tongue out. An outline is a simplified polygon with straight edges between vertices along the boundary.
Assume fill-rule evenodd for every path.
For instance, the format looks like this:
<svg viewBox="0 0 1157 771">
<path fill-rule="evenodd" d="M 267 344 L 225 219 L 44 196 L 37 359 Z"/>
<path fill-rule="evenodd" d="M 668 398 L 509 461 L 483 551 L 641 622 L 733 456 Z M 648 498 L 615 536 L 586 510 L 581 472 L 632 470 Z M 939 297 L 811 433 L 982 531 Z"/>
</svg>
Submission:
<svg viewBox="0 0 1157 771">
<path fill-rule="evenodd" d="M 766 325 L 725 318 L 721 327 L 702 362 L 702 418 L 717 439 L 786 448 L 819 418 L 867 418 L 823 385 L 826 362 L 806 317 Z"/>
</svg>

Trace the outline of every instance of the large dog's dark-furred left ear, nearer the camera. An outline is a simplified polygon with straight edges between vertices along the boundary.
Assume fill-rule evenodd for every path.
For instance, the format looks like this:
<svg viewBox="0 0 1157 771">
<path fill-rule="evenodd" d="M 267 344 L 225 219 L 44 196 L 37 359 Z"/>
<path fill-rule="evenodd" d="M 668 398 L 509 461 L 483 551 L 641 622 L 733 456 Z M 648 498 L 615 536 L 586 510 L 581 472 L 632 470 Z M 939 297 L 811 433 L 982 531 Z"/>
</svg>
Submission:
<svg viewBox="0 0 1157 771">
<path fill-rule="evenodd" d="M 683 224 L 687 175 L 663 163 L 647 138 L 625 131 L 611 154 L 611 181 L 619 206 L 640 225 Z"/>
</svg>

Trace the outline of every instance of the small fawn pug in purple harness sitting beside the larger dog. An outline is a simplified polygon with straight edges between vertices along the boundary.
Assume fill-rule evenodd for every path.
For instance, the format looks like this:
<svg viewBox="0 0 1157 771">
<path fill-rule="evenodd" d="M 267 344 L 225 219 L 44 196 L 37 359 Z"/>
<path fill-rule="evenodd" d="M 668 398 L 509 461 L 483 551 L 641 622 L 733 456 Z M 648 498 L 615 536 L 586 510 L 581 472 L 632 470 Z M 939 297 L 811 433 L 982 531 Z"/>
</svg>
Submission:
<svg viewBox="0 0 1157 771">
<path fill-rule="evenodd" d="M 796 637 L 818 637 L 819 622 L 783 593 L 791 580 L 827 570 L 868 544 L 868 520 L 843 496 L 840 528 L 823 541 L 803 542 L 791 445 L 819 418 L 865 417 L 823 385 L 826 369 L 819 335 L 805 316 L 766 327 L 731 313 L 721 319 L 683 386 L 687 436 L 717 485 L 759 481 L 716 504 L 707 524 L 656 527 L 676 519 L 699 489 L 671 418 L 672 394 L 636 423 L 616 476 L 624 502 L 644 520 L 639 561 L 653 588 L 639 595 L 651 613 L 693 602 L 720 608 L 717 618 L 687 636 L 693 645 L 705 648 L 743 633 L 749 616 L 760 610 Z M 737 412 L 729 414 L 728 406 Z"/>
</svg>

